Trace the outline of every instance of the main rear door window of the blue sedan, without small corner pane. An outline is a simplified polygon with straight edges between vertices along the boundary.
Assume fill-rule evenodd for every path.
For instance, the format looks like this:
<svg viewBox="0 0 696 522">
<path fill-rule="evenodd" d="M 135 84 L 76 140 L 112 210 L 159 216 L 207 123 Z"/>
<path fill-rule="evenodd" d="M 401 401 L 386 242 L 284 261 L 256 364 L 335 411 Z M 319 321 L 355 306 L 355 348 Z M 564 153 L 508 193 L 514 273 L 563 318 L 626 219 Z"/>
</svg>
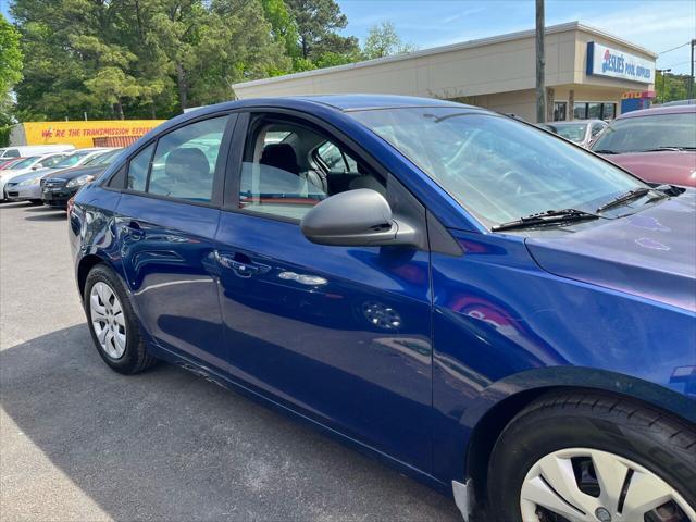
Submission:
<svg viewBox="0 0 696 522">
<path fill-rule="evenodd" d="M 158 196 L 210 202 L 215 165 L 227 116 L 177 128 L 157 144 L 147 191 Z"/>
</svg>

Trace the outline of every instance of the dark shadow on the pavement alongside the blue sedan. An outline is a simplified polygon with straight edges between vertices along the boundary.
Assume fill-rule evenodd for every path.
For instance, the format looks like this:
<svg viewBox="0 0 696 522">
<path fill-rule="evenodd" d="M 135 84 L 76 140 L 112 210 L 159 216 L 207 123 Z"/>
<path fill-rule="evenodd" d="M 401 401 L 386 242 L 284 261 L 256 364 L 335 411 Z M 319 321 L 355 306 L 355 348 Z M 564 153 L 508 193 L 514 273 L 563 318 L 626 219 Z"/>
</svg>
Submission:
<svg viewBox="0 0 696 522">
<path fill-rule="evenodd" d="M 460 520 L 450 499 L 184 370 L 112 372 L 84 324 L 3 350 L 0 372 L 20 430 L 116 520 Z"/>
</svg>

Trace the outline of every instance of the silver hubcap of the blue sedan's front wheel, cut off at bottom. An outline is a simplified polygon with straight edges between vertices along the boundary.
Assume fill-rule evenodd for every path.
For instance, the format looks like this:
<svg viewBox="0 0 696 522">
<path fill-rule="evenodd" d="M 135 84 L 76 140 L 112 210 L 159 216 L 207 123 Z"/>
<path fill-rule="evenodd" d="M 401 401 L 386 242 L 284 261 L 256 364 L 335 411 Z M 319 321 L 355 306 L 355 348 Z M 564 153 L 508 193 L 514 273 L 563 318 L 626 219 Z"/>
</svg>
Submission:
<svg viewBox="0 0 696 522">
<path fill-rule="evenodd" d="M 520 492 L 524 522 L 696 522 L 667 482 L 607 451 L 570 448 L 539 459 Z"/>
</svg>

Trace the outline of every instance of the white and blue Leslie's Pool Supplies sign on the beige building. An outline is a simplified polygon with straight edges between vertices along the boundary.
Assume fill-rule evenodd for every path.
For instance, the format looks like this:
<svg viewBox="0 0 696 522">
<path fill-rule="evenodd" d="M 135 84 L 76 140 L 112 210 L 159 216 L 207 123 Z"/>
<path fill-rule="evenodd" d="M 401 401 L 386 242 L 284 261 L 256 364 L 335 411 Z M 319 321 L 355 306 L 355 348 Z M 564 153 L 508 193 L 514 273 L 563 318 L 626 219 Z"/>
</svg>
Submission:
<svg viewBox="0 0 696 522">
<path fill-rule="evenodd" d="M 655 61 L 591 41 L 587 44 L 587 74 L 652 84 Z"/>
</svg>

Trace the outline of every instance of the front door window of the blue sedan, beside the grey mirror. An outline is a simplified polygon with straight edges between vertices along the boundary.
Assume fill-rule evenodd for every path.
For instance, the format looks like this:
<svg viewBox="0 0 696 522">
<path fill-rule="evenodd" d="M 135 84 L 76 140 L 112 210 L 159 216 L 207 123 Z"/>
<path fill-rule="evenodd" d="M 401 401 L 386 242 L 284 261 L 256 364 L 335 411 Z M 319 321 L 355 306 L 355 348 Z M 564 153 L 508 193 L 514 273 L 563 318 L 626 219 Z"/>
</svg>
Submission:
<svg viewBox="0 0 696 522">
<path fill-rule="evenodd" d="M 337 141 L 299 123 L 258 119 L 251 125 L 239 208 L 300 220 L 323 199 L 353 188 L 384 192 L 384 182 Z"/>
</svg>

